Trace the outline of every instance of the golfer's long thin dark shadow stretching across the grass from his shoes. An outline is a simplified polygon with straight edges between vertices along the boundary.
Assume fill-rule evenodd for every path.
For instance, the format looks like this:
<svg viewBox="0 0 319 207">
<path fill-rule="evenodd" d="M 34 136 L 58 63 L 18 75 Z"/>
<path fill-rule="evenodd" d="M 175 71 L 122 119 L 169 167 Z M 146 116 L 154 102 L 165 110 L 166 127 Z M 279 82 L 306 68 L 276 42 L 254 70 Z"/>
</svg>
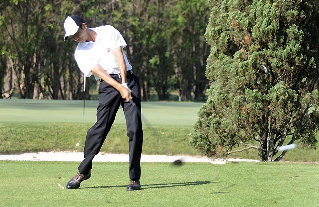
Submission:
<svg viewBox="0 0 319 207">
<path fill-rule="evenodd" d="M 182 187 L 182 186 L 192 186 L 192 185 L 206 185 L 213 184 L 217 182 L 211 181 L 196 181 L 196 182 L 178 182 L 178 183 L 159 183 L 159 184 L 147 184 L 143 185 L 141 190 L 155 189 L 155 188 L 167 188 L 167 187 Z M 116 188 L 116 187 L 127 187 L 127 185 L 116 185 L 116 186 L 96 186 L 96 187 L 82 187 L 79 189 L 90 189 L 90 188 Z"/>
</svg>

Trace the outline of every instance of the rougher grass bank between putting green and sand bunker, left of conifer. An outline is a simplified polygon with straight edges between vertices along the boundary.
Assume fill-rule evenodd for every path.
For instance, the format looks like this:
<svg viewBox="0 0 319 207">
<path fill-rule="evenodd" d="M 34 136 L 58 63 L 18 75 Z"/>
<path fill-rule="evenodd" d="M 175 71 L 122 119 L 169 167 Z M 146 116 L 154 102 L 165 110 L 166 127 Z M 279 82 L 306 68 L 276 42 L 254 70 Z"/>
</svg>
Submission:
<svg viewBox="0 0 319 207">
<path fill-rule="evenodd" d="M 89 123 L 0 123 L 0 153 L 82 151 Z M 198 155 L 189 145 L 190 126 L 144 128 L 143 154 Z M 102 152 L 128 153 L 126 125 L 115 124 Z"/>
</svg>

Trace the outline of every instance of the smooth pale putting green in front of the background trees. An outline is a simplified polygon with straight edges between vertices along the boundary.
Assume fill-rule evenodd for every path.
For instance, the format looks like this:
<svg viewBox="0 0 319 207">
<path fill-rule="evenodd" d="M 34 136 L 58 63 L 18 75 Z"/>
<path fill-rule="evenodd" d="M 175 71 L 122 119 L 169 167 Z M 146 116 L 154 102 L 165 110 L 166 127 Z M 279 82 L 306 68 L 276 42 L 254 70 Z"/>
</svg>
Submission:
<svg viewBox="0 0 319 207">
<path fill-rule="evenodd" d="M 98 101 L 83 100 L 0 100 L 0 122 L 77 122 L 94 123 Z M 203 103 L 142 102 L 146 125 L 192 126 Z M 125 123 L 120 107 L 115 123 Z"/>
</svg>

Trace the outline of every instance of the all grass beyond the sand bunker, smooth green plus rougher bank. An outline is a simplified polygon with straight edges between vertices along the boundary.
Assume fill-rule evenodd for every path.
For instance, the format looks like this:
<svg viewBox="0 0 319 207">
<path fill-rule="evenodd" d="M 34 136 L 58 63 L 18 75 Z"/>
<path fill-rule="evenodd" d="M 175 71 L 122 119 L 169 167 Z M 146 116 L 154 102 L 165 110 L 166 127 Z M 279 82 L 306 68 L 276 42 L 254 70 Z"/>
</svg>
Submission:
<svg viewBox="0 0 319 207">
<path fill-rule="evenodd" d="M 0 154 L 37 151 L 82 151 L 86 131 L 96 120 L 97 101 L 0 100 Z M 200 155 L 190 146 L 190 136 L 203 103 L 142 102 L 144 155 Z M 101 149 L 128 153 L 125 119 L 120 109 Z M 258 152 L 229 158 L 258 159 Z M 318 162 L 318 150 L 300 145 L 282 161 Z"/>
</svg>

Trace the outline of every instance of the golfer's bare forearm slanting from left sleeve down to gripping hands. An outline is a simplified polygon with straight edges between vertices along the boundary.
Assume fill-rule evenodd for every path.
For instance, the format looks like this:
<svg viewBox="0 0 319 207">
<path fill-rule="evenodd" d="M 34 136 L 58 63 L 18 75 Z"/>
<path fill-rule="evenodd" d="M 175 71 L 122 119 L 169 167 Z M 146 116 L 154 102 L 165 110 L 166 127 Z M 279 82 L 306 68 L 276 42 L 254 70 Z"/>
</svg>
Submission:
<svg viewBox="0 0 319 207">
<path fill-rule="evenodd" d="M 112 78 L 105 70 L 98 64 L 95 65 L 94 68 L 91 70 L 92 73 L 100 77 L 103 81 L 105 81 L 110 86 L 113 86 L 116 90 L 118 90 L 123 99 L 126 101 L 130 101 L 132 99 L 131 92 L 125 88 L 121 83 L 117 82 L 114 78 Z M 122 78 L 123 81 L 123 78 Z"/>
</svg>

